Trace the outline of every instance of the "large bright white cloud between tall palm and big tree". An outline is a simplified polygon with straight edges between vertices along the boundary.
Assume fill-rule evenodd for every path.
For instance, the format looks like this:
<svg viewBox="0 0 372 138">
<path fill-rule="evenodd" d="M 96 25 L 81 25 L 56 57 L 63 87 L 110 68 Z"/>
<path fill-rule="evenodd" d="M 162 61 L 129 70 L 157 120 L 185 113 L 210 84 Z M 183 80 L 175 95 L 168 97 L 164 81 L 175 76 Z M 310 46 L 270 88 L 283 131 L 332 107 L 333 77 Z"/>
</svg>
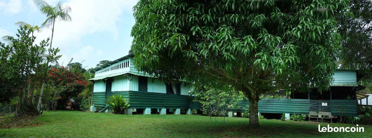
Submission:
<svg viewBox="0 0 372 138">
<path fill-rule="evenodd" d="M 47 1 L 48 2 L 48 1 Z M 56 2 L 48 2 L 54 6 Z M 90 56 L 102 55 L 102 50 L 86 46 L 81 39 L 90 34 L 110 34 L 113 38 L 118 36 L 118 23 L 123 23 L 122 14 L 132 15 L 132 7 L 137 0 L 74 0 L 63 5 L 71 7 L 71 22 L 60 21 L 55 24 L 52 47 L 61 49 L 60 63 L 68 63 L 71 57 L 74 61 L 81 62 Z M 119 22 L 120 21 L 120 22 Z M 131 27 L 131 26 L 130 26 Z M 35 34 L 36 41 L 51 36 L 51 29 Z M 105 40 L 91 40 L 105 41 Z M 102 46 L 105 47 L 105 46 Z M 118 46 L 119 47 L 119 46 Z"/>
</svg>

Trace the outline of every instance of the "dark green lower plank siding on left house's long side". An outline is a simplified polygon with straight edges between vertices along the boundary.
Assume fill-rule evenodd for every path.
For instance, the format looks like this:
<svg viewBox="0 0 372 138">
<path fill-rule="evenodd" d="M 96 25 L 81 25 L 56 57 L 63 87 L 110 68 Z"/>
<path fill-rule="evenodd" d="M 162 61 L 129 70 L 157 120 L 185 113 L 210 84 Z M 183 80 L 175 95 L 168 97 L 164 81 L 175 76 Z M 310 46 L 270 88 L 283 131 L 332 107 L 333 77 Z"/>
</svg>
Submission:
<svg viewBox="0 0 372 138">
<path fill-rule="evenodd" d="M 199 109 L 200 103 L 191 102 L 187 95 L 163 94 L 155 92 L 129 92 L 129 108 L 158 109 Z"/>
</svg>

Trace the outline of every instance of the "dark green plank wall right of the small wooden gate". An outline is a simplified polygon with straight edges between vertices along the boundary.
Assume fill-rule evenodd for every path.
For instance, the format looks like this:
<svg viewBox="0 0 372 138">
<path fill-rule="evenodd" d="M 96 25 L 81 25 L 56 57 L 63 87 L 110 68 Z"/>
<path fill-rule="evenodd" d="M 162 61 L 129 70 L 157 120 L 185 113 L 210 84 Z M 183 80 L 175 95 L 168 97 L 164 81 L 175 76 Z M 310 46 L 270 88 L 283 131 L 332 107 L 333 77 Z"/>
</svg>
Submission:
<svg viewBox="0 0 372 138">
<path fill-rule="evenodd" d="M 343 116 L 357 116 L 356 100 L 331 100 L 332 115 L 339 116 L 339 112 Z"/>
</svg>

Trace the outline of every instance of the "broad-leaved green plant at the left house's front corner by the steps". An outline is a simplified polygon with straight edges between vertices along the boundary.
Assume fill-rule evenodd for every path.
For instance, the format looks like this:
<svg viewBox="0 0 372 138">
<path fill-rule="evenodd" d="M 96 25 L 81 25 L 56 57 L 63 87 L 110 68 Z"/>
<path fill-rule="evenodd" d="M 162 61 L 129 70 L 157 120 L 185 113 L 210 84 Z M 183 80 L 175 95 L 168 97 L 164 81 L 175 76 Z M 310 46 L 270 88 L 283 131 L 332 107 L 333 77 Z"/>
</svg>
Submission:
<svg viewBox="0 0 372 138">
<path fill-rule="evenodd" d="M 109 100 L 106 100 L 106 103 L 110 105 L 112 112 L 115 114 L 124 114 L 124 110 L 130 106 L 128 102 L 125 103 L 126 99 L 123 100 L 123 95 L 115 94 L 108 98 Z"/>
</svg>

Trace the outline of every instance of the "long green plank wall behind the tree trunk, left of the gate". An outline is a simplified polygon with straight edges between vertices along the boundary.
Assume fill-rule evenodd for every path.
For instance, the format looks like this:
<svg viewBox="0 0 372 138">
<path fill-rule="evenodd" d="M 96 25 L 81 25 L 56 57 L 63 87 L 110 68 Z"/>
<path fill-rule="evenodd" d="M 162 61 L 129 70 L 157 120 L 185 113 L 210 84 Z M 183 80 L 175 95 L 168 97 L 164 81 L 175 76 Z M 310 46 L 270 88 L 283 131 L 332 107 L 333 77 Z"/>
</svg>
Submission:
<svg viewBox="0 0 372 138">
<path fill-rule="evenodd" d="M 240 101 L 239 108 L 231 109 L 234 112 L 244 112 L 249 105 L 247 99 Z M 309 114 L 310 102 L 308 99 L 262 99 L 258 103 L 260 113 L 296 113 Z"/>
</svg>

